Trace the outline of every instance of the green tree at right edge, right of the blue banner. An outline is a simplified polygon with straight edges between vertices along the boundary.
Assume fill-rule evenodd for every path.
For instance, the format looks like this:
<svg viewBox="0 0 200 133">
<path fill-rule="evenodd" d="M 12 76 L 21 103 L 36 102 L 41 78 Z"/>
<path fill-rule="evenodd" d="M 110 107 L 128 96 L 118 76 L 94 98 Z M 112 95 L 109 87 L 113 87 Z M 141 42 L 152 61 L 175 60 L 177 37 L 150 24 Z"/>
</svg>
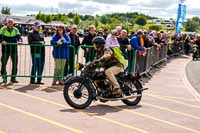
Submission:
<svg viewBox="0 0 200 133">
<path fill-rule="evenodd" d="M 191 19 L 188 19 L 185 23 L 185 30 L 187 32 L 195 32 L 199 29 L 199 22 L 193 21 Z"/>
</svg>

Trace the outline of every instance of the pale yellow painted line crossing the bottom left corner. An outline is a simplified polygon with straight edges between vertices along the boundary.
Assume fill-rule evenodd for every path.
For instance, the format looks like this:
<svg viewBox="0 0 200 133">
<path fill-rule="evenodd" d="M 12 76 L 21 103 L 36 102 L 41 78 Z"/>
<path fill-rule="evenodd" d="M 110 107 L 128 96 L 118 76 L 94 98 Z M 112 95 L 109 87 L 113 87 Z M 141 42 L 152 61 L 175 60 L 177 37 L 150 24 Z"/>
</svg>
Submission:
<svg viewBox="0 0 200 133">
<path fill-rule="evenodd" d="M 13 110 L 13 111 L 16 111 L 16 112 L 19 112 L 19 113 L 24 114 L 24 115 L 26 115 L 26 116 L 29 116 L 29 117 L 32 117 L 32 118 L 35 118 L 35 119 L 38 119 L 38 120 L 47 122 L 47 123 L 49 123 L 49 124 L 51 124 L 51 125 L 54 125 L 54 126 L 57 126 L 57 127 L 61 127 L 61 128 L 64 128 L 64 129 L 67 129 L 67 130 L 69 130 L 69 131 L 71 131 L 71 132 L 74 132 L 74 133 L 83 133 L 82 131 L 80 131 L 80 130 L 78 130 L 78 129 L 65 126 L 65 125 L 63 125 L 63 124 L 61 124 L 61 123 L 59 123 L 59 122 L 56 122 L 56 121 L 47 119 L 47 118 L 45 118 L 45 117 L 42 117 L 42 116 L 39 116 L 39 115 L 30 113 L 30 112 L 24 111 L 24 110 L 22 110 L 22 109 L 19 109 L 19 108 L 13 107 L 13 106 L 9 106 L 9 105 L 3 104 L 3 103 L 0 103 L 0 106 L 5 107 L 5 108 L 8 108 L 8 109 Z"/>
</svg>

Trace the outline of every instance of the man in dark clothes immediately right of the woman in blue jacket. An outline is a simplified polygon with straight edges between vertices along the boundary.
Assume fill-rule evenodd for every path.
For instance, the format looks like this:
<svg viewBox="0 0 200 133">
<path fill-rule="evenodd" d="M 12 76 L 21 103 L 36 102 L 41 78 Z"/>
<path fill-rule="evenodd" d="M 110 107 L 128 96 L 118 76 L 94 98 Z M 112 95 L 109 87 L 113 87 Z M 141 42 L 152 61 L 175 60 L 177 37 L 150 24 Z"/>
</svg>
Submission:
<svg viewBox="0 0 200 133">
<path fill-rule="evenodd" d="M 71 39 L 71 45 L 74 46 L 74 49 L 73 48 L 69 48 L 69 54 L 71 55 L 69 57 L 69 71 L 66 70 L 67 67 L 65 66 L 65 74 L 64 74 L 64 76 L 67 76 L 67 74 L 72 74 L 73 71 L 74 71 L 74 60 L 75 60 L 75 58 L 74 58 L 73 55 L 77 55 L 78 54 L 78 47 L 81 45 L 80 44 L 80 40 L 79 40 L 79 36 L 77 34 L 77 31 L 78 31 L 78 27 L 76 25 L 73 25 L 71 27 L 71 30 L 70 30 L 70 33 L 69 33 L 69 37 Z M 68 63 L 66 63 L 66 65 L 68 65 Z"/>
</svg>

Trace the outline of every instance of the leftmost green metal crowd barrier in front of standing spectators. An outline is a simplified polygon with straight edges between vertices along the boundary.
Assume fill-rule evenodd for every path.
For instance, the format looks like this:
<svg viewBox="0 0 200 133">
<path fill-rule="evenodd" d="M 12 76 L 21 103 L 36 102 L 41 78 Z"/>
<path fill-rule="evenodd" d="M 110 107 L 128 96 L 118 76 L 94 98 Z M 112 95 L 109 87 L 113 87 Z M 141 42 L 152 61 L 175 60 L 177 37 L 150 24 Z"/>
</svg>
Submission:
<svg viewBox="0 0 200 133">
<path fill-rule="evenodd" d="M 31 76 L 31 69 L 32 69 L 32 56 L 31 56 L 31 49 L 30 49 L 31 46 L 34 46 L 35 48 L 41 47 L 41 46 L 45 47 L 45 53 L 44 53 L 45 64 L 44 64 L 44 70 L 43 70 L 42 76 Z M 54 76 L 55 62 L 54 62 L 54 57 L 52 55 L 53 47 L 65 48 L 66 46 L 52 46 L 52 45 L 47 45 L 47 44 L 31 45 L 31 44 L 16 44 L 16 43 L 7 43 L 6 46 L 1 46 L 1 55 L 0 55 L 1 56 L 1 61 L 0 61 L 1 75 L 0 76 L 2 76 L 3 78 L 7 78 L 7 77 L 64 78 L 64 74 L 60 76 Z M 72 48 L 73 52 L 75 53 L 75 49 L 73 46 L 67 46 L 67 47 Z M 16 54 L 14 54 L 13 52 L 16 52 Z M 11 60 L 8 59 L 8 62 L 7 62 L 6 58 L 8 58 L 9 56 L 12 57 L 13 55 L 15 56 L 14 59 L 11 59 Z M 75 58 L 75 54 L 70 55 L 70 56 L 74 56 Z M 74 60 L 74 64 L 76 63 L 75 61 L 76 60 Z M 7 73 L 2 71 L 2 62 L 6 64 Z M 41 63 L 42 62 L 39 62 L 39 64 Z M 16 75 L 12 74 L 13 67 L 17 68 Z M 73 74 L 74 73 L 75 71 L 73 72 Z"/>
</svg>

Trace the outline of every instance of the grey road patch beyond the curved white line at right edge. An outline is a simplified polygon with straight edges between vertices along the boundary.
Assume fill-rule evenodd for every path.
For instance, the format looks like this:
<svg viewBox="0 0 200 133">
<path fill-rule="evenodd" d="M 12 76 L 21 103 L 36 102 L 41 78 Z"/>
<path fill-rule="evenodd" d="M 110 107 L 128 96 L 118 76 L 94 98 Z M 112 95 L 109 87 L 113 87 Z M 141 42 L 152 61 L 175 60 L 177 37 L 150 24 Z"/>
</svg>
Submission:
<svg viewBox="0 0 200 133">
<path fill-rule="evenodd" d="M 186 67 L 186 73 L 192 86 L 200 93 L 200 60 L 191 61 Z"/>
</svg>

